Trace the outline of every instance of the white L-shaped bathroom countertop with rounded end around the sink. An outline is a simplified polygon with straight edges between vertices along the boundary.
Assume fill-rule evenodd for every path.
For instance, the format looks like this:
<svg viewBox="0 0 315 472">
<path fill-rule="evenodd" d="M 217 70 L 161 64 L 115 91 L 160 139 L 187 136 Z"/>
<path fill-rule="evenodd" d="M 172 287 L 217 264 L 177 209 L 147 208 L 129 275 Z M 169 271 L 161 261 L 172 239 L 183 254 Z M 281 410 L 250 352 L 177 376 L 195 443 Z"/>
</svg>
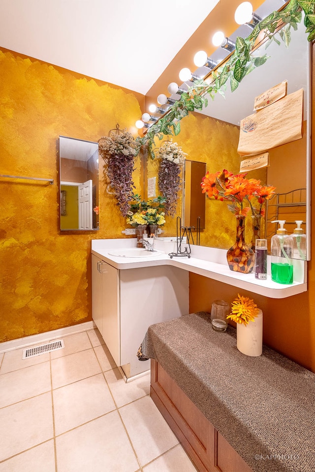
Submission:
<svg viewBox="0 0 315 472">
<path fill-rule="evenodd" d="M 174 249 L 176 252 L 175 240 L 176 238 L 157 238 L 155 240 L 155 249 L 164 251 L 162 255 L 156 256 L 153 252 L 152 256 L 146 258 L 128 258 L 112 256 L 109 252 L 117 248 L 135 247 L 135 238 L 93 239 L 92 254 L 119 270 L 150 266 L 174 266 L 270 298 L 286 298 L 307 291 L 307 283 L 305 282 L 307 263 L 304 261 L 295 260 L 293 262 L 293 274 L 298 281 L 283 285 L 272 281 L 270 275 L 267 280 L 258 280 L 254 273 L 241 274 L 231 271 L 226 262 L 225 249 L 192 245 L 190 258 L 175 256 L 170 258 L 168 253 L 173 252 Z M 268 261 L 268 267 L 270 274 L 270 261 Z"/>
</svg>

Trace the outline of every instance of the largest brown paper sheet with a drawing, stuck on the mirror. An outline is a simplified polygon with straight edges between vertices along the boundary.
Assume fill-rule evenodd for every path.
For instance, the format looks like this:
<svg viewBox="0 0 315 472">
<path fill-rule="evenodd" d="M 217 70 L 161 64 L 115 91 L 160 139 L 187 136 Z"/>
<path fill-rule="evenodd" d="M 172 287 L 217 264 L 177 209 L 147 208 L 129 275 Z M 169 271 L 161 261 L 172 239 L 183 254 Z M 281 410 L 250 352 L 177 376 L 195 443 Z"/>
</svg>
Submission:
<svg viewBox="0 0 315 472">
<path fill-rule="evenodd" d="M 302 138 L 303 89 L 242 119 L 237 152 L 250 156 Z"/>
</svg>

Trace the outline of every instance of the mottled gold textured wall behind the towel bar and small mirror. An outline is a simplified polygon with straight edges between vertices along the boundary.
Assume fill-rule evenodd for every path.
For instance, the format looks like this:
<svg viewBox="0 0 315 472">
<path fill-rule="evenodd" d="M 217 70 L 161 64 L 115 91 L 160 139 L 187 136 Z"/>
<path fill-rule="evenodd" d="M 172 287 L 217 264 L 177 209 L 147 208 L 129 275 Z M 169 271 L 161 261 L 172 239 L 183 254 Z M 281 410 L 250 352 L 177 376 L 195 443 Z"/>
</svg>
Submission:
<svg viewBox="0 0 315 472">
<path fill-rule="evenodd" d="M 121 237 L 126 224 L 100 187 L 100 231 L 60 232 L 58 137 L 98 141 L 116 123 L 135 136 L 142 100 L 0 50 L 0 174 L 54 179 L 0 177 L 0 342 L 92 319 L 91 239 Z"/>
</svg>

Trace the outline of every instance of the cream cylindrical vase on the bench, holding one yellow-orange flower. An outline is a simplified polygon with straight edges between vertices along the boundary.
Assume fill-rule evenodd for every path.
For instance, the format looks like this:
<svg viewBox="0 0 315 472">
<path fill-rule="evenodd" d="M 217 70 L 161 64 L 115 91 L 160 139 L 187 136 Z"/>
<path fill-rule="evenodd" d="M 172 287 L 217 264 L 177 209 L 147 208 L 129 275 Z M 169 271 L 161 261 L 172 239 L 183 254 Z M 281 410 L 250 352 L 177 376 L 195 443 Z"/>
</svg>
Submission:
<svg viewBox="0 0 315 472">
<path fill-rule="evenodd" d="M 251 356 L 262 354 L 262 311 L 259 310 L 254 321 L 236 326 L 236 347 L 242 353 Z"/>
</svg>

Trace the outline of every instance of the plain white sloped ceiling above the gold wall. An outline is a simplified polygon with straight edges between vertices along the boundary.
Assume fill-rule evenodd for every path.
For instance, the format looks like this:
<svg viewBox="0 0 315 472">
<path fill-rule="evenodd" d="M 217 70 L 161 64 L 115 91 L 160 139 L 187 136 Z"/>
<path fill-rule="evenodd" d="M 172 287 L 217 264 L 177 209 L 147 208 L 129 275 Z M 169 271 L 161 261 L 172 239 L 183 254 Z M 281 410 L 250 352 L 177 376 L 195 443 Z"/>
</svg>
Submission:
<svg viewBox="0 0 315 472">
<path fill-rule="evenodd" d="M 0 46 L 145 95 L 218 2 L 1 0 Z"/>
</svg>

